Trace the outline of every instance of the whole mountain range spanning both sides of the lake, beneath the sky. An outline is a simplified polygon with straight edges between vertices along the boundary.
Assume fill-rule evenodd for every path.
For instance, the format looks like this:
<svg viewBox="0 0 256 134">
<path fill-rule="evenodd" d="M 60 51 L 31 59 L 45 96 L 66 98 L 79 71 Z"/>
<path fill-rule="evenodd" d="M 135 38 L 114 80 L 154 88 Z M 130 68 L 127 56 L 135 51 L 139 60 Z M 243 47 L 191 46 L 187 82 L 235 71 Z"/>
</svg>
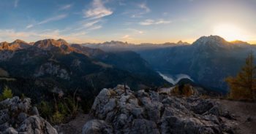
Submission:
<svg viewBox="0 0 256 134">
<path fill-rule="evenodd" d="M 202 36 L 192 44 L 69 44 L 64 39 L 27 43 L 17 39 L 0 43 L 0 76 L 18 79 L 1 80 L 1 85 L 12 83 L 17 88 L 25 82 L 27 89 L 71 92 L 78 88 L 83 95 L 97 95 L 101 88 L 116 84 L 136 88 L 168 84 L 158 71 L 187 74 L 203 87 L 226 93 L 225 78 L 238 73 L 251 51 L 256 51 L 255 45 L 227 42 L 220 36 Z"/>
</svg>

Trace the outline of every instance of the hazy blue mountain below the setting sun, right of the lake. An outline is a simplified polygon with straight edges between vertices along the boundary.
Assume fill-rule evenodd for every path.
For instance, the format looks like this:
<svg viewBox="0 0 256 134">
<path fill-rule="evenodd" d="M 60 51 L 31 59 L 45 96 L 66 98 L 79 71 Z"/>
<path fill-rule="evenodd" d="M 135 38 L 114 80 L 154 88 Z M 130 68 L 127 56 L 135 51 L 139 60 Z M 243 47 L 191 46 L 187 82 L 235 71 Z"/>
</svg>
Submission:
<svg viewBox="0 0 256 134">
<path fill-rule="evenodd" d="M 192 45 L 138 51 L 158 71 L 187 74 L 199 84 L 227 92 L 225 77 L 234 76 L 256 47 L 227 42 L 219 36 L 202 36 Z"/>
</svg>

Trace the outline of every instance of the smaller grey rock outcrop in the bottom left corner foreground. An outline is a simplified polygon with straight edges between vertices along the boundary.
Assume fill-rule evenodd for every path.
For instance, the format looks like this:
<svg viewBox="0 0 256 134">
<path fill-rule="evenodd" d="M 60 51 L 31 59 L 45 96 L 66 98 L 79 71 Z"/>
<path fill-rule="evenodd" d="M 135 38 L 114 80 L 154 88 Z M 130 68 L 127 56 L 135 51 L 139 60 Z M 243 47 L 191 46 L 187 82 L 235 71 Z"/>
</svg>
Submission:
<svg viewBox="0 0 256 134">
<path fill-rule="evenodd" d="M 30 98 L 8 98 L 0 102 L 0 134 L 56 134 L 57 131 L 42 117 Z"/>
</svg>

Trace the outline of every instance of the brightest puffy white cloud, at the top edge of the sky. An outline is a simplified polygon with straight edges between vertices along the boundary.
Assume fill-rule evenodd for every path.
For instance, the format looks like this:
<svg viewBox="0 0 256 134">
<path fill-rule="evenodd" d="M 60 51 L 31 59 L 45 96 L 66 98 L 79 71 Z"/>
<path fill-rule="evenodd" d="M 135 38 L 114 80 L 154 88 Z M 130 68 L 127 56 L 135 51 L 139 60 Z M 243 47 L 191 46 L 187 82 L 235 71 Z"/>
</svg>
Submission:
<svg viewBox="0 0 256 134">
<path fill-rule="evenodd" d="M 105 7 L 101 0 L 94 0 L 92 2 L 92 7 L 89 10 L 85 10 L 84 17 L 89 17 L 91 19 L 97 19 L 101 17 L 105 17 L 108 15 L 112 15 L 113 11 Z"/>
</svg>

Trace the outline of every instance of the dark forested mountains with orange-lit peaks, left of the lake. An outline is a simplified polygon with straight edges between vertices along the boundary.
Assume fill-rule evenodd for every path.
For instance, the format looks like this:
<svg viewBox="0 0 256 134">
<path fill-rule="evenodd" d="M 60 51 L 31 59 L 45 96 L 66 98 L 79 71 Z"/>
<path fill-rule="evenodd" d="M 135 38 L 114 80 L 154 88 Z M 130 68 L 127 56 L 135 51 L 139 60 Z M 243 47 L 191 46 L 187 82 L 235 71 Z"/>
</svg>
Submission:
<svg viewBox="0 0 256 134">
<path fill-rule="evenodd" d="M 131 51 L 105 52 L 63 39 L 0 43 L 0 87 L 7 85 L 16 95 L 37 102 L 78 90 L 81 98 L 93 101 L 99 90 L 116 84 L 141 89 L 168 82 Z"/>
</svg>

